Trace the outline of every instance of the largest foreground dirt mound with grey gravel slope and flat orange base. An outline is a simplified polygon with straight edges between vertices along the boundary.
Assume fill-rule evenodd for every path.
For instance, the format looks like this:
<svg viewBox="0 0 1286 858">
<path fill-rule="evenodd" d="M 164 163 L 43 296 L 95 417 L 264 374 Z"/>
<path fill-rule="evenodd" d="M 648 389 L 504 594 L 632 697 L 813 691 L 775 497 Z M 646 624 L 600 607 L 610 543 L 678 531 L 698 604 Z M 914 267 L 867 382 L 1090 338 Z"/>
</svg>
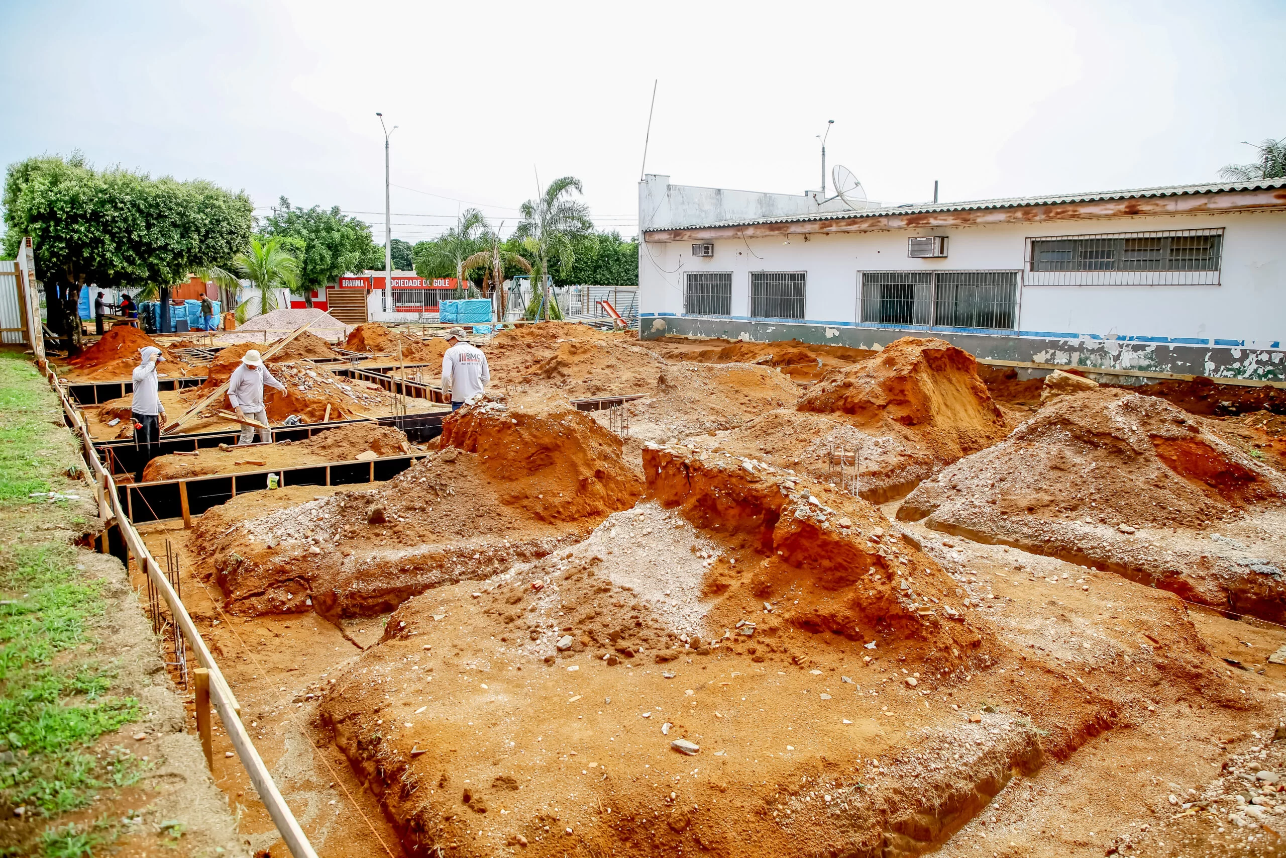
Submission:
<svg viewBox="0 0 1286 858">
<path fill-rule="evenodd" d="M 655 498 L 408 601 L 324 695 L 409 854 L 916 855 L 1163 700 L 1251 705 L 1168 594 L 1132 599 L 1165 652 L 1139 659 L 1114 611 L 1011 617 L 859 499 L 647 455 Z"/>
</svg>

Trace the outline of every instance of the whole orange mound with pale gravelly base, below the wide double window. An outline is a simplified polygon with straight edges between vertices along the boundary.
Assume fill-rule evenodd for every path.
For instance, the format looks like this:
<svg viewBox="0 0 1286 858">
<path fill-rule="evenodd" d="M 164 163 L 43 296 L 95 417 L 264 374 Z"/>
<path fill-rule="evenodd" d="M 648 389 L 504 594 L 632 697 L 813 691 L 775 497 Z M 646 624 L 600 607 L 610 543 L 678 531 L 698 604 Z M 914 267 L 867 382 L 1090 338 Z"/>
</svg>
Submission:
<svg viewBox="0 0 1286 858">
<path fill-rule="evenodd" d="M 868 500 L 900 498 L 1008 432 L 975 369 L 971 355 L 941 340 L 904 337 L 828 372 L 796 410 L 766 413 L 720 444 L 856 489 Z"/>
</svg>

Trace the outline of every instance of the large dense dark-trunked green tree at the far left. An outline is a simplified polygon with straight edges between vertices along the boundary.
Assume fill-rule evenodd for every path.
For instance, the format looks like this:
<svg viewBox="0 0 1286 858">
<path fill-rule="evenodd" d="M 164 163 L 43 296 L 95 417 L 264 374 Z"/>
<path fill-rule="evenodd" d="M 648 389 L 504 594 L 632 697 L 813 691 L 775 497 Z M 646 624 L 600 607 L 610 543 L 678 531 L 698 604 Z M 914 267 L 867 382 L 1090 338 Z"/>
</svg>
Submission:
<svg viewBox="0 0 1286 858">
<path fill-rule="evenodd" d="M 244 192 L 122 167 L 96 171 L 78 152 L 9 165 L 4 210 L 5 253 L 31 235 L 49 328 L 69 351 L 80 350 L 82 288 L 181 283 L 190 271 L 228 265 L 253 224 Z"/>
</svg>

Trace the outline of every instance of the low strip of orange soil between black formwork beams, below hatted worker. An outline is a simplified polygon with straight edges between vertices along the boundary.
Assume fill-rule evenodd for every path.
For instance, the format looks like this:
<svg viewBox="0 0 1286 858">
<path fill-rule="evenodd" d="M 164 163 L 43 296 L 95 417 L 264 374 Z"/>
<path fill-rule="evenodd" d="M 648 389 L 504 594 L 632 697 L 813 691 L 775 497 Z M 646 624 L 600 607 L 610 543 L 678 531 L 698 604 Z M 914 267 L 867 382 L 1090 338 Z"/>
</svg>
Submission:
<svg viewBox="0 0 1286 858">
<path fill-rule="evenodd" d="M 183 480 L 207 473 L 240 473 L 297 464 L 349 462 L 359 453 L 401 455 L 410 452 L 406 436 L 391 426 L 370 422 L 340 426 L 302 441 L 279 441 L 243 449 L 203 448 L 197 455 L 161 455 L 143 471 L 143 480 Z"/>
</svg>

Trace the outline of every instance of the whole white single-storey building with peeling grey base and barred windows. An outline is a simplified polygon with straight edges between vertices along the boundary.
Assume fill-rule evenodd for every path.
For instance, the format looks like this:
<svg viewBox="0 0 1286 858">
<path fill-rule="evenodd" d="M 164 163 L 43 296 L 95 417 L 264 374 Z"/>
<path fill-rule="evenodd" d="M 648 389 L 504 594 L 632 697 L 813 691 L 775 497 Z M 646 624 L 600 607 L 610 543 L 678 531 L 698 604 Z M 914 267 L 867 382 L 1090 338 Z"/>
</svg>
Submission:
<svg viewBox="0 0 1286 858">
<path fill-rule="evenodd" d="M 640 336 L 1286 378 L 1286 180 L 853 210 L 639 183 Z"/>
</svg>

